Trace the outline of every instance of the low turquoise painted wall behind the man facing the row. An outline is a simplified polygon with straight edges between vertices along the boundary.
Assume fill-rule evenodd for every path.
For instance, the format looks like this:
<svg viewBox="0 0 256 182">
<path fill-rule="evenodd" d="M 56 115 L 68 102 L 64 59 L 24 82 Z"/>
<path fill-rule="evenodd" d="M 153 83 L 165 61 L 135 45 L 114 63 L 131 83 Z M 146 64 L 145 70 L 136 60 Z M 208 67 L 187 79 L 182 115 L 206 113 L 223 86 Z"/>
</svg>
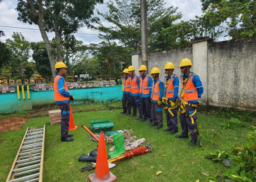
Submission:
<svg viewBox="0 0 256 182">
<path fill-rule="evenodd" d="M 72 101 L 71 104 L 83 104 L 87 102 L 104 103 L 105 99 L 108 102 L 111 102 L 121 100 L 123 96 L 120 85 L 74 88 L 69 89 L 69 92 L 75 97 L 75 100 Z M 23 99 L 21 91 L 20 99 L 18 99 L 17 92 L 0 94 L 0 114 L 31 110 L 33 107 L 55 103 L 53 98 L 53 90 L 30 90 L 30 99 L 27 98 L 27 91 L 25 90 L 25 98 L 26 99 Z"/>
</svg>

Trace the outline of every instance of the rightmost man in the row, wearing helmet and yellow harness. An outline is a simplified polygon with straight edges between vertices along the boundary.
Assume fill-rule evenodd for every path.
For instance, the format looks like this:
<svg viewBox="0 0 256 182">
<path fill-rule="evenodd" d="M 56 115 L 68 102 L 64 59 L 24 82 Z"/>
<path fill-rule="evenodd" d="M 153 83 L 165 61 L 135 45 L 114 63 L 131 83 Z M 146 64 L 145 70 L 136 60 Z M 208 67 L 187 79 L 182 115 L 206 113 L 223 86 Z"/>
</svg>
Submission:
<svg viewBox="0 0 256 182">
<path fill-rule="evenodd" d="M 182 59 L 180 62 L 180 81 L 182 91 L 180 94 L 180 124 L 181 135 L 176 135 L 176 138 L 188 138 L 188 131 L 191 132 L 191 141 L 189 146 L 196 145 L 199 132 L 197 130 L 197 115 L 196 107 L 198 106 L 198 98 L 203 94 L 202 82 L 198 75 L 190 72 L 192 62 L 190 59 Z"/>
</svg>

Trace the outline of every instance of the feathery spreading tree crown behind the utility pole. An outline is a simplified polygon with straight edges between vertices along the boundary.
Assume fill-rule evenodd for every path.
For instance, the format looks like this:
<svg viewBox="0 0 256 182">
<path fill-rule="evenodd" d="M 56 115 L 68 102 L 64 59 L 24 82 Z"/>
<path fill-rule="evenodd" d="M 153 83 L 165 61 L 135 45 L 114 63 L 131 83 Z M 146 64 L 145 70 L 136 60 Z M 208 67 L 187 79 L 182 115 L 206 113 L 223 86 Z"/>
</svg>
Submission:
<svg viewBox="0 0 256 182">
<path fill-rule="evenodd" d="M 157 32 L 161 27 L 169 27 L 175 20 L 181 18 L 181 13 L 176 13 L 177 7 L 164 8 L 164 0 L 147 1 L 147 34 L 150 50 L 157 49 Z M 107 3 L 108 12 L 102 13 L 97 10 L 105 20 L 112 23 L 105 27 L 102 23 L 93 28 L 106 34 L 103 39 L 119 40 L 125 47 L 140 49 L 140 0 L 110 0 Z M 176 14 L 175 14 L 176 13 Z"/>
</svg>

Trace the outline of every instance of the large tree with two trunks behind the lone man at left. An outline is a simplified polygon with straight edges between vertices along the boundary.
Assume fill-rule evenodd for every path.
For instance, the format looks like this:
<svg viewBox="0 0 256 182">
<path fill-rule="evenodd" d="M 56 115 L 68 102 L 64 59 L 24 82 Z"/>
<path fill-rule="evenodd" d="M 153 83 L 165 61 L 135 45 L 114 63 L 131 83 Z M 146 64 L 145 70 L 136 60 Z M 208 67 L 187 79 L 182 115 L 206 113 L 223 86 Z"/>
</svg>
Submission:
<svg viewBox="0 0 256 182">
<path fill-rule="evenodd" d="M 18 20 L 24 23 L 38 25 L 44 40 L 53 78 L 56 76 L 55 59 L 52 46 L 46 32 L 55 32 L 57 47 L 57 61 L 63 61 L 63 36 L 71 37 L 83 24 L 90 25 L 98 21 L 97 17 L 91 18 L 94 6 L 103 3 L 103 0 L 19 0 L 16 10 Z"/>
</svg>

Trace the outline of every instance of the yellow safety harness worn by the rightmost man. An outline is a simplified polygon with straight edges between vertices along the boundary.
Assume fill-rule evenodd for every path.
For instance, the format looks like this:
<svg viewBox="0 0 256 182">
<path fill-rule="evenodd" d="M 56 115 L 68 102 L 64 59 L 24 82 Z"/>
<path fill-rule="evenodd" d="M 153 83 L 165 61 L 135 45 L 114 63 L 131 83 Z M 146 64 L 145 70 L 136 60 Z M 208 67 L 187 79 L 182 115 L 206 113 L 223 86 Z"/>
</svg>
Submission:
<svg viewBox="0 0 256 182">
<path fill-rule="evenodd" d="M 180 102 L 178 102 L 178 105 L 179 105 L 179 108 L 180 108 L 180 112 L 178 112 L 179 114 L 183 114 L 186 112 L 186 105 L 188 106 L 191 106 L 191 107 L 197 107 L 199 106 L 199 104 L 191 104 L 191 103 L 188 103 L 186 102 L 185 100 L 183 100 L 183 96 L 184 96 L 184 91 L 185 91 L 185 86 L 186 86 L 186 83 L 188 81 L 188 79 L 190 78 L 190 76 L 192 75 L 193 73 L 191 72 L 188 76 L 188 78 L 186 78 L 184 81 L 183 81 L 183 87 L 182 87 L 182 90 L 181 90 L 181 93 L 180 93 Z M 195 108 L 195 111 L 192 113 L 192 114 L 187 114 L 190 118 L 191 118 L 191 123 L 194 124 L 194 119 L 192 118 L 193 115 L 196 114 L 196 108 Z"/>
</svg>

